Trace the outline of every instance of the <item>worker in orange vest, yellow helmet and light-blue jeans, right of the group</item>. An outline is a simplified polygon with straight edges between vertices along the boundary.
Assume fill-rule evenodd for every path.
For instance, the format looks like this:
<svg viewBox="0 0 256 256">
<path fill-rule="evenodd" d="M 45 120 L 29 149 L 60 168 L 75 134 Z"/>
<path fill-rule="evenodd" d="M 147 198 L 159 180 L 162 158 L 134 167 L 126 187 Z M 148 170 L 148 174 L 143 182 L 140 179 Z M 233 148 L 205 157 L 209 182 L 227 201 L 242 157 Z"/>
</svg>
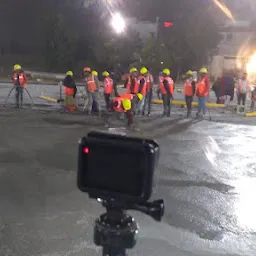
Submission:
<svg viewBox="0 0 256 256">
<path fill-rule="evenodd" d="M 201 68 L 200 79 L 196 84 L 196 96 L 198 97 L 198 112 L 197 117 L 201 117 L 201 111 L 203 110 L 203 115 L 206 113 L 206 99 L 210 91 L 210 79 L 207 75 L 208 70 L 206 68 Z"/>
</svg>

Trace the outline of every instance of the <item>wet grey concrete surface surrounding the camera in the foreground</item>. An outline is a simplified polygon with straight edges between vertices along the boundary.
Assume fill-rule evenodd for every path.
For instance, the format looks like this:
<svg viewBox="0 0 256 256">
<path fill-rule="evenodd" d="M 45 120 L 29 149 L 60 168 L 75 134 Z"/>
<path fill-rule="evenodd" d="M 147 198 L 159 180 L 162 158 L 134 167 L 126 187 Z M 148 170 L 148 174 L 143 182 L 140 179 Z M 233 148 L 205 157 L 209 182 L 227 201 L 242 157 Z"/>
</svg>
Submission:
<svg viewBox="0 0 256 256">
<path fill-rule="evenodd" d="M 78 139 L 103 122 L 3 108 L 0 120 L 0 255 L 100 255 L 92 230 L 103 208 L 75 179 Z M 141 229 L 130 255 L 255 255 L 256 127 L 180 115 L 138 125 L 161 145 L 155 198 L 166 214 L 132 213 Z"/>
</svg>

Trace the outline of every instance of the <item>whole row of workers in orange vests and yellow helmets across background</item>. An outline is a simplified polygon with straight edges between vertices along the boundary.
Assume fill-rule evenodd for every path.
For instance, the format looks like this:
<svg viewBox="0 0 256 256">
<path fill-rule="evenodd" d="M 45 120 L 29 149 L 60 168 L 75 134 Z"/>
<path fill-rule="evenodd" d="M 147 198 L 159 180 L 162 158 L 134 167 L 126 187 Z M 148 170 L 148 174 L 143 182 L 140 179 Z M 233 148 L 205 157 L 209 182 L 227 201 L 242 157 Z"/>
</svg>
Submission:
<svg viewBox="0 0 256 256">
<path fill-rule="evenodd" d="M 187 107 L 187 117 L 191 117 L 193 97 L 198 98 L 198 111 L 196 116 L 198 118 L 203 117 L 206 114 L 206 101 L 210 92 L 210 79 L 208 76 L 208 70 L 201 68 L 199 71 L 200 77 L 196 80 L 193 78 L 193 72 L 189 70 L 186 73 L 186 79 L 184 82 L 184 97 Z M 117 92 L 117 86 L 115 81 L 111 78 L 109 72 L 104 71 L 102 73 L 104 77 L 104 99 L 106 103 L 105 110 L 107 112 L 122 112 L 125 113 L 128 120 L 128 125 L 133 125 L 134 115 L 151 115 L 151 104 L 154 87 L 154 78 L 151 72 L 142 67 L 139 71 L 137 68 L 131 68 L 129 75 L 124 83 L 126 93 L 119 95 Z M 88 114 L 92 114 L 94 107 L 97 108 L 99 115 L 101 115 L 100 105 L 100 84 L 98 80 L 98 73 L 91 70 L 90 67 L 83 69 L 84 88 L 87 94 L 87 100 L 85 101 L 83 111 L 87 111 Z M 16 87 L 16 106 L 19 108 L 23 104 L 23 89 L 27 83 L 27 77 L 21 66 L 14 65 L 13 82 Z M 233 100 L 234 97 L 234 85 L 230 89 L 228 86 L 223 88 L 222 80 L 218 79 L 213 85 L 213 90 L 217 96 L 217 103 L 227 103 Z M 159 74 L 157 81 L 157 92 L 160 98 L 163 100 L 163 116 L 170 116 L 171 103 L 174 99 L 174 81 L 171 78 L 171 72 L 168 68 L 163 69 Z M 65 111 L 75 111 L 77 106 L 74 103 L 74 99 L 77 93 L 77 86 L 73 78 L 73 72 L 68 71 L 66 77 L 63 80 L 64 86 L 64 108 Z M 223 91 L 224 90 L 224 91 Z M 247 80 L 247 74 L 238 80 L 237 96 L 238 96 L 238 109 L 240 104 L 244 107 L 246 101 L 246 95 L 249 90 L 249 82 Z M 256 89 L 252 93 L 252 102 L 254 104 L 256 100 Z"/>
</svg>

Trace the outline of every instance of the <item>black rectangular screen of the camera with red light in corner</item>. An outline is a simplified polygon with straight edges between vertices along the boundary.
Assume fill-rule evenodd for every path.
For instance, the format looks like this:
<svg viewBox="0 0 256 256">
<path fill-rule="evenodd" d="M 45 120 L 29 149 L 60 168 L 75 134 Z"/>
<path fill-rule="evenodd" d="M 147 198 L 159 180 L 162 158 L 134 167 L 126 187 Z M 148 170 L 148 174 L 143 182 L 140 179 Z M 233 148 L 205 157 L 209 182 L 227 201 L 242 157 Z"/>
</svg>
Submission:
<svg viewBox="0 0 256 256">
<path fill-rule="evenodd" d="M 84 184 L 114 193 L 141 196 L 145 175 L 145 153 L 141 148 L 102 143 L 83 148 Z"/>
</svg>

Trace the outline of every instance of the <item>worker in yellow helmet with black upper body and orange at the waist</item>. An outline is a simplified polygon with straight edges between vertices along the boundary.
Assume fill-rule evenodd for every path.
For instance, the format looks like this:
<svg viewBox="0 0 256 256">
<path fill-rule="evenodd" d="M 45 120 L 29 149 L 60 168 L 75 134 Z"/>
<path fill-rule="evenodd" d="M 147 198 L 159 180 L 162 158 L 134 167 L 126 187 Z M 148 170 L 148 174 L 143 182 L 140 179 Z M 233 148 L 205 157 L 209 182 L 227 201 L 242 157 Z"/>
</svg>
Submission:
<svg viewBox="0 0 256 256">
<path fill-rule="evenodd" d="M 68 71 L 66 73 L 66 77 L 63 80 L 63 86 L 64 86 L 64 110 L 69 111 L 75 111 L 77 107 L 74 104 L 74 94 L 75 94 L 75 88 L 76 84 L 73 79 L 73 72 Z"/>
</svg>

